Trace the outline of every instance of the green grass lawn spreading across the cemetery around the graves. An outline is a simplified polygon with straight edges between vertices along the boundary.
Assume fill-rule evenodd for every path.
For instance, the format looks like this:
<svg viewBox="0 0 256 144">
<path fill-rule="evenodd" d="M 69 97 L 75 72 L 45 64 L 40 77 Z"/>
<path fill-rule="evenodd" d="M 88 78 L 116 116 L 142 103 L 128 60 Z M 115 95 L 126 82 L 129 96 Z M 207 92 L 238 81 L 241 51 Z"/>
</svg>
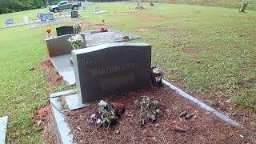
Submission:
<svg viewBox="0 0 256 144">
<path fill-rule="evenodd" d="M 95 5 L 111 13 L 92 14 Z M 198 94 L 205 102 L 221 97 L 231 98 L 238 106 L 250 107 L 245 99 L 255 104 L 255 12 L 156 4 L 154 10 L 132 10 L 134 13 L 129 14 L 128 8 L 134 8 L 135 3 L 94 6 L 82 14 L 89 18 L 84 22 L 100 24 L 105 19 L 109 28 L 141 35 L 138 42 L 153 46 L 153 65 L 164 68 L 166 78 L 183 89 Z M 39 11 L 46 10 L 2 14 L 0 21 L 11 17 L 21 22 L 23 15 L 31 19 Z M 38 65 L 47 56 L 43 38 L 48 27 L 54 30 L 56 26 L 0 29 L 0 116 L 10 116 L 8 143 L 43 143 L 40 128 L 32 117 L 38 107 L 46 105 L 48 95 L 54 91 L 47 86 Z M 35 70 L 30 71 L 31 67 Z"/>
</svg>

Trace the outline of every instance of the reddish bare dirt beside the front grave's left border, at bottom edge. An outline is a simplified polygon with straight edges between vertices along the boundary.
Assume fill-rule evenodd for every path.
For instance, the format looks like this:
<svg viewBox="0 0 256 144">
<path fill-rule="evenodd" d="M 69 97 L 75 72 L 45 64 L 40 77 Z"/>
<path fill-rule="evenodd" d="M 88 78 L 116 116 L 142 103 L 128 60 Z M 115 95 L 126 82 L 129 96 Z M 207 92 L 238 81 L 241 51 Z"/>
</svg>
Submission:
<svg viewBox="0 0 256 144">
<path fill-rule="evenodd" d="M 42 106 L 34 113 L 34 122 L 42 128 L 42 138 L 46 143 L 57 144 L 57 131 L 53 126 L 53 116 L 50 104 Z"/>
</svg>

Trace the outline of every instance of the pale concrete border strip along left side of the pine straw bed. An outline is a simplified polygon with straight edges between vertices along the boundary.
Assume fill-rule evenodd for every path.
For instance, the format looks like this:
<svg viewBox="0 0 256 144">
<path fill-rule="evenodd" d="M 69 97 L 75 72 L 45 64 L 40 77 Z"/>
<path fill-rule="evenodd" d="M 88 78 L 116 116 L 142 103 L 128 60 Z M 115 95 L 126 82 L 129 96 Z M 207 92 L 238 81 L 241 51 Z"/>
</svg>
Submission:
<svg viewBox="0 0 256 144">
<path fill-rule="evenodd" d="M 58 139 L 63 144 L 73 144 L 73 134 L 71 134 L 70 127 L 65 122 L 65 115 L 60 112 L 60 104 L 58 98 L 50 98 L 51 108 L 54 113 L 54 121 L 58 129 Z"/>
</svg>

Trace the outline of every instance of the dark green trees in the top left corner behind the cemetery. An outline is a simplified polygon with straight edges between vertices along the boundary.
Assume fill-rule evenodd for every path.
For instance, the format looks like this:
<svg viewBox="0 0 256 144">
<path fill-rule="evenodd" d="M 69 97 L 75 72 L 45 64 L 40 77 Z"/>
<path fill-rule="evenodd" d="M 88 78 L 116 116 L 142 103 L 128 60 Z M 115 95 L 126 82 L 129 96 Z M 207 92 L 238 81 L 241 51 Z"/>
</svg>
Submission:
<svg viewBox="0 0 256 144">
<path fill-rule="evenodd" d="M 0 14 L 38 9 L 59 0 L 0 0 Z"/>
</svg>

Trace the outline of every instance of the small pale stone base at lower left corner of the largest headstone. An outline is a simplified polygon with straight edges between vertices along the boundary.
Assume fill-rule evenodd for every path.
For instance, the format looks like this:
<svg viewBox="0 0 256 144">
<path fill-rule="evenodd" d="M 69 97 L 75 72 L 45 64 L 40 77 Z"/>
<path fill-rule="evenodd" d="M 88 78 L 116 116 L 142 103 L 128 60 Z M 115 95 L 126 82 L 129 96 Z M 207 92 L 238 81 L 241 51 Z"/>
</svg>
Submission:
<svg viewBox="0 0 256 144">
<path fill-rule="evenodd" d="M 90 103 L 82 104 L 78 101 L 78 94 L 64 96 L 67 106 L 70 110 L 78 110 L 83 107 L 90 106 Z"/>
</svg>

